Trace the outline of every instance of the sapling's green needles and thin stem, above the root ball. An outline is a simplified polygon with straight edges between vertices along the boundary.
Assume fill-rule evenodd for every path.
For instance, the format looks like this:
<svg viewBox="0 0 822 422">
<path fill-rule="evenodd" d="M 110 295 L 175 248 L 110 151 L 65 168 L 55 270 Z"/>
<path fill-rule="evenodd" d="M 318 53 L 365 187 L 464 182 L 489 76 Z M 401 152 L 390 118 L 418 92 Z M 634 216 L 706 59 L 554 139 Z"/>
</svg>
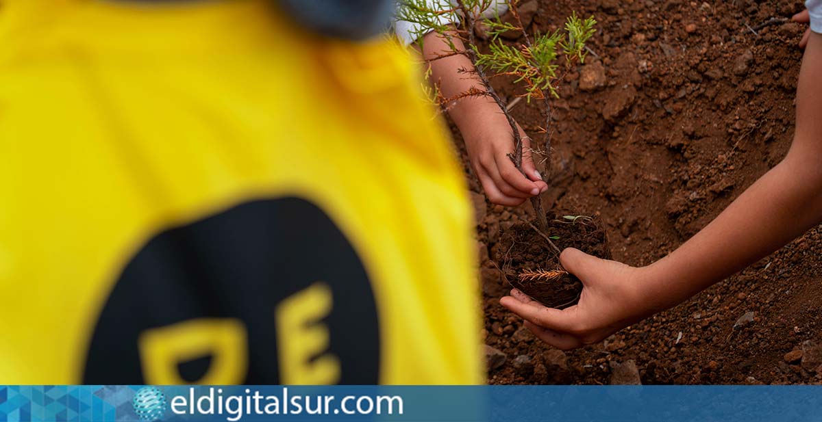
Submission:
<svg viewBox="0 0 822 422">
<path fill-rule="evenodd" d="M 420 47 L 423 47 L 423 35 L 430 31 L 436 32 L 443 39 L 446 39 L 450 49 L 437 53 L 429 60 L 439 60 L 457 54 L 468 57 L 475 69 L 471 71 L 483 82 L 484 89 L 472 87 L 464 92 L 444 97 L 441 91 L 434 88 L 429 93 L 432 99 L 439 103 L 441 108 L 447 110 L 452 104 L 469 97 L 487 96 L 494 100 L 500 111 L 505 115 L 511 128 L 514 144 L 513 150 L 508 154 L 515 167 L 524 173 L 522 166 L 523 140 L 520 131 L 516 126 L 514 117 L 511 116 L 505 101 L 493 89 L 490 79 L 499 76 L 511 76 L 516 85 L 524 88 L 522 97 L 527 103 L 531 100 L 538 100 L 543 103 L 540 112 L 543 116 L 544 127 L 539 131 L 543 133 L 543 142 L 532 148 L 533 154 L 543 156 L 546 163 L 547 174 L 550 174 L 551 163 L 551 99 L 559 98 L 556 81 L 561 78 L 558 75 L 560 65 L 557 64 L 560 58 L 565 59 L 565 70 L 569 70 L 576 62 L 584 62 L 586 49 L 585 43 L 593 36 L 595 30 L 593 25 L 596 21 L 593 16 L 587 19 L 580 19 L 573 13 L 566 20 L 565 27 L 548 33 L 533 34 L 528 33 L 517 11 L 519 0 L 507 0 L 507 5 L 513 22 L 502 21 L 500 16 L 493 18 L 482 17 L 482 12 L 496 5 L 494 0 L 455 0 L 453 2 L 441 1 L 445 7 L 436 7 L 427 0 L 403 0 L 399 8 L 399 19 L 415 24 L 416 33 L 411 34 L 417 39 Z M 461 19 L 456 19 L 456 17 Z M 452 19 L 443 19 L 450 17 Z M 454 24 L 446 22 L 456 22 Z M 484 25 L 486 34 L 490 37 L 488 52 L 483 53 L 479 48 L 477 37 L 474 32 L 475 27 L 481 23 Z M 509 31 L 519 31 L 523 43 L 508 45 L 502 41 L 500 34 Z M 459 49 L 454 43 L 454 39 L 460 39 L 465 45 L 464 49 Z M 461 71 L 469 72 L 464 69 Z M 547 232 L 548 222 L 543 212 L 542 201 L 538 195 L 531 198 L 534 213 L 536 213 L 539 229 Z M 551 239 L 548 239 L 552 246 Z"/>
</svg>

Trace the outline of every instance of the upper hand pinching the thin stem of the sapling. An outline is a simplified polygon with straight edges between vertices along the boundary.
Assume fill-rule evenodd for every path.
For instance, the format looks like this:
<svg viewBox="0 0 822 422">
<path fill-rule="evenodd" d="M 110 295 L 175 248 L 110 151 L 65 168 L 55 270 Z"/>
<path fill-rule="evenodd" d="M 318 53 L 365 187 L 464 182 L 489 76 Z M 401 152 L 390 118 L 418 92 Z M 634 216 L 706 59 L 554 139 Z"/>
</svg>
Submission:
<svg viewBox="0 0 822 422">
<path fill-rule="evenodd" d="M 514 135 L 506 117 L 496 104 L 487 111 L 474 110 L 470 124 L 460 125 L 474 172 L 488 200 L 494 204 L 515 206 L 548 189 L 537 172 L 531 157 L 530 139 L 520 128 L 522 168 L 528 177 L 517 170 L 508 154 L 514 152 Z M 519 128 L 519 125 L 517 126 Z"/>
</svg>

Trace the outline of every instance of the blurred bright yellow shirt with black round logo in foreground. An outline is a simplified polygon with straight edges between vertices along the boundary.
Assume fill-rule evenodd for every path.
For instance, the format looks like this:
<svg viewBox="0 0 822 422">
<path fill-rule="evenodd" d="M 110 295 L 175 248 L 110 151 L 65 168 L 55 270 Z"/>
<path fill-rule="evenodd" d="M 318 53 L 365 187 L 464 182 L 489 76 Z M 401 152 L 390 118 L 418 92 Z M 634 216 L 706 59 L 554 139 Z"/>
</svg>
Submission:
<svg viewBox="0 0 822 422">
<path fill-rule="evenodd" d="M 0 8 L 3 383 L 480 383 L 465 186 L 387 40 Z"/>
</svg>

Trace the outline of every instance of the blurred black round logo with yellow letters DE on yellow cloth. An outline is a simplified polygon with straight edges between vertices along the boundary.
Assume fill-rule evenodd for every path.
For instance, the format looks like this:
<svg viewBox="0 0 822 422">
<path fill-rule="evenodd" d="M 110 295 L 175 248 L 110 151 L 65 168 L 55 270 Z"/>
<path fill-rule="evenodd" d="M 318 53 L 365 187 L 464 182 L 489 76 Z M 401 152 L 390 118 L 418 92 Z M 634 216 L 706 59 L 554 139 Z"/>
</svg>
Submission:
<svg viewBox="0 0 822 422">
<path fill-rule="evenodd" d="M 96 321 L 83 383 L 378 383 L 362 261 L 316 205 L 256 200 L 150 239 Z"/>
</svg>

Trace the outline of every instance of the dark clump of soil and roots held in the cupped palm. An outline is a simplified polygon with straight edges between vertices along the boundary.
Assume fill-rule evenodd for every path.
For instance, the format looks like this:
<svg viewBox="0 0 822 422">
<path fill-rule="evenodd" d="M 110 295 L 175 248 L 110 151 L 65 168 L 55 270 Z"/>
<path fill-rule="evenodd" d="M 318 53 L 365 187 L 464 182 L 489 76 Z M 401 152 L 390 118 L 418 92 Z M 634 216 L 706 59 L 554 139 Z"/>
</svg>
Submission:
<svg viewBox="0 0 822 422">
<path fill-rule="evenodd" d="M 611 259 L 611 250 L 598 218 L 563 213 L 547 215 L 547 221 L 544 233 L 537 232 L 536 222 L 515 224 L 502 232 L 496 268 L 512 287 L 543 305 L 564 309 L 580 301 L 582 282 L 563 271 L 556 250 L 576 248 L 603 259 Z"/>
</svg>

